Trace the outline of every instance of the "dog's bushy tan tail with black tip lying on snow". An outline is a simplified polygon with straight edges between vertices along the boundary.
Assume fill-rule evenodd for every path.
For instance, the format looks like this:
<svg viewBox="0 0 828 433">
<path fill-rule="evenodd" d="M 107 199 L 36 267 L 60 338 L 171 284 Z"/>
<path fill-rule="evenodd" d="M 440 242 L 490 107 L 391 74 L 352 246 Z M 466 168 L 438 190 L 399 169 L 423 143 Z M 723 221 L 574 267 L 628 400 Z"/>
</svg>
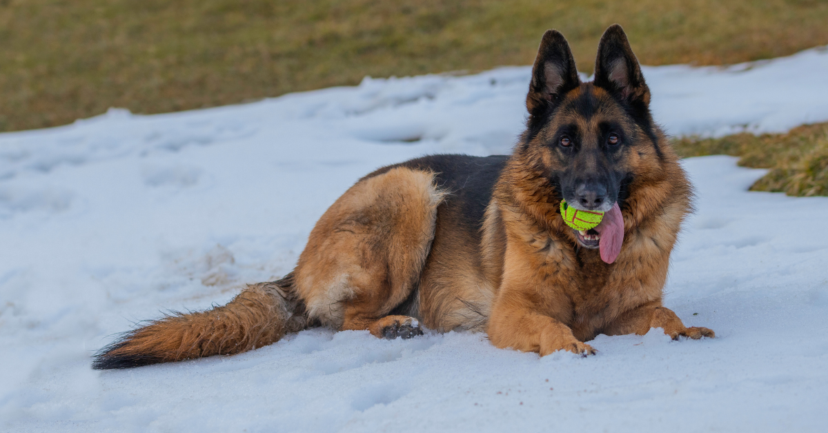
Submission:
<svg viewBox="0 0 828 433">
<path fill-rule="evenodd" d="M 132 368 L 217 354 L 238 354 L 306 327 L 305 308 L 291 291 L 292 274 L 249 285 L 226 306 L 173 313 L 124 333 L 94 355 L 92 368 Z"/>
</svg>

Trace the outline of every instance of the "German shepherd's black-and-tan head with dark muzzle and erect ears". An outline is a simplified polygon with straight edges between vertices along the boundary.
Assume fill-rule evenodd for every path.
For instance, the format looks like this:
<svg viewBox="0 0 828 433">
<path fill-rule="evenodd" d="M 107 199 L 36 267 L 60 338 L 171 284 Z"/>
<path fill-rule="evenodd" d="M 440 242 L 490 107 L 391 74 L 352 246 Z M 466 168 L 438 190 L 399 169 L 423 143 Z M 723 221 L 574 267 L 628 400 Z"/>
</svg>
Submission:
<svg viewBox="0 0 828 433">
<path fill-rule="evenodd" d="M 662 159 L 650 90 L 619 25 L 601 37 L 595 80 L 581 83 L 569 44 L 546 31 L 527 94 L 528 127 L 517 152 L 540 165 L 576 209 L 609 211 L 623 202 L 635 176 Z M 598 233 L 576 236 L 598 248 Z"/>
</svg>

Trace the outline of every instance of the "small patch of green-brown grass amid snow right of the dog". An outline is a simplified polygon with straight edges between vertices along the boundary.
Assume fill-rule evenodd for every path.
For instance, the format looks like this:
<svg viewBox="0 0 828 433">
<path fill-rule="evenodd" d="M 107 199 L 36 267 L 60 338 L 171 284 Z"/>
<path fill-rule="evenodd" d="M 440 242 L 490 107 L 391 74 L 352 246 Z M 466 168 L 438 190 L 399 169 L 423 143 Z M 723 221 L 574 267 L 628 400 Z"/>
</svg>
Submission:
<svg viewBox="0 0 828 433">
<path fill-rule="evenodd" d="M 770 169 L 750 190 L 787 195 L 828 195 L 828 123 L 803 125 L 785 134 L 742 133 L 673 141 L 679 155 L 740 156 L 739 166 Z"/>
</svg>

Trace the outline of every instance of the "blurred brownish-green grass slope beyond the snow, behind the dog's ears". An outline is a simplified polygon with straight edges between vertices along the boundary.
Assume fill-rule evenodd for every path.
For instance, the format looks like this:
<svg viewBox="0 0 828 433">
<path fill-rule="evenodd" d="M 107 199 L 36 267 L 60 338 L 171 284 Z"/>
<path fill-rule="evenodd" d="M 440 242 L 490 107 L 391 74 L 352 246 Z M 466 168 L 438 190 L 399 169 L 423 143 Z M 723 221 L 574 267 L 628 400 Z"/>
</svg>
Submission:
<svg viewBox="0 0 828 433">
<path fill-rule="evenodd" d="M 646 65 L 828 44 L 826 0 L 0 0 L 0 131 L 529 65 L 547 28 L 589 73 L 614 22 Z"/>
</svg>

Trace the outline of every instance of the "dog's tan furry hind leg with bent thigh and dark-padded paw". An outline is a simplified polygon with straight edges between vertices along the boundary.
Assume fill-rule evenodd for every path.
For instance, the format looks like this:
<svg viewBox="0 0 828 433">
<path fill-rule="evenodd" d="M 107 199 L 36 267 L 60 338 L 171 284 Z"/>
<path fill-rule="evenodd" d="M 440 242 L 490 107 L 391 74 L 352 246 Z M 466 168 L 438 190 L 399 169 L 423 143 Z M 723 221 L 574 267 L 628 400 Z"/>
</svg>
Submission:
<svg viewBox="0 0 828 433">
<path fill-rule="evenodd" d="M 391 314 L 419 281 L 443 195 L 433 173 L 396 167 L 339 197 L 311 231 L 294 272 L 310 319 L 381 338 L 420 334 L 415 318 Z"/>
</svg>

